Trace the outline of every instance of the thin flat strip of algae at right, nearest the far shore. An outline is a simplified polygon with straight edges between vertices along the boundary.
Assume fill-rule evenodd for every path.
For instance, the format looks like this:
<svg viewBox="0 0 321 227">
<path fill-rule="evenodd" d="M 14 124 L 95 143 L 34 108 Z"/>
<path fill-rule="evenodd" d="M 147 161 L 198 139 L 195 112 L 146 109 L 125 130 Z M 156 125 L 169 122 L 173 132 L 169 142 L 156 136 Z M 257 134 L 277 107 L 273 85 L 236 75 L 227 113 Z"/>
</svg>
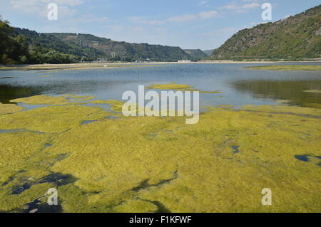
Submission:
<svg viewBox="0 0 321 227">
<path fill-rule="evenodd" d="M 248 69 L 257 70 L 307 70 L 307 71 L 321 71 L 321 65 L 263 65 L 244 67 Z"/>
</svg>

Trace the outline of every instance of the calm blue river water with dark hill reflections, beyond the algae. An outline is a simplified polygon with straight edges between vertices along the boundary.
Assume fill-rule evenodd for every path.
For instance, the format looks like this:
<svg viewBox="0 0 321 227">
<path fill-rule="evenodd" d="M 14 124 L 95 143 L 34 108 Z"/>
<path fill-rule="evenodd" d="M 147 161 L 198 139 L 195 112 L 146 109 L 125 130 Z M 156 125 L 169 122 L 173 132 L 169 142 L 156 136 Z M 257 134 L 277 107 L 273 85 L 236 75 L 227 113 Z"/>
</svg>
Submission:
<svg viewBox="0 0 321 227">
<path fill-rule="evenodd" d="M 290 100 L 290 105 L 300 106 L 321 104 L 320 93 L 303 92 L 321 90 L 320 72 L 249 70 L 243 68 L 245 66 L 252 65 L 177 64 L 91 70 L 1 70 L 0 102 L 8 103 L 14 98 L 39 94 L 94 95 L 97 99 L 121 100 L 127 90 L 137 93 L 138 85 L 175 81 L 200 90 L 223 91 L 222 94 L 200 94 L 200 105 L 204 106 L 275 105 L 279 103 L 277 100 Z M 41 75 L 51 77 L 43 78 Z"/>
</svg>

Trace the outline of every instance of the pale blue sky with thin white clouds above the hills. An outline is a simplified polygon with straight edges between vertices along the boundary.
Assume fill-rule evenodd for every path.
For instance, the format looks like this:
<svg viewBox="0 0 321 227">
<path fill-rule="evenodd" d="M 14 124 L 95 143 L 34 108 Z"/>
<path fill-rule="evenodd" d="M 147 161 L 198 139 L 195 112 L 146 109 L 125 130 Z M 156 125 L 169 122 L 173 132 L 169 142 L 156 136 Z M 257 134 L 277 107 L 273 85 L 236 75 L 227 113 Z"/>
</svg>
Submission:
<svg viewBox="0 0 321 227">
<path fill-rule="evenodd" d="M 48 5 L 58 19 L 48 19 Z M 90 33 L 130 43 L 218 48 L 243 28 L 263 23 L 263 3 L 272 22 L 320 4 L 320 0 L 0 0 L 11 26 L 41 33 Z"/>
</svg>

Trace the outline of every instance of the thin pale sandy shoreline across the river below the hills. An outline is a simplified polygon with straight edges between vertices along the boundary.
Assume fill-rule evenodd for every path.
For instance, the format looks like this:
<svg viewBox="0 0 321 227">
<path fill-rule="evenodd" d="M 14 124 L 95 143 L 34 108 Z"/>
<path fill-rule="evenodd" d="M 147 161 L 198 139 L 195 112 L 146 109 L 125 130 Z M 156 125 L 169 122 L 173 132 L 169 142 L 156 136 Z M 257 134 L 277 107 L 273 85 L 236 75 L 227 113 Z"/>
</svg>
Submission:
<svg viewBox="0 0 321 227">
<path fill-rule="evenodd" d="M 278 63 L 321 63 L 321 60 L 305 61 L 233 61 L 204 60 L 190 63 L 150 62 L 150 63 L 68 63 L 68 64 L 37 64 L 37 65 L 0 65 L 0 70 L 72 70 L 92 68 L 151 67 L 165 64 L 278 64 Z"/>
</svg>

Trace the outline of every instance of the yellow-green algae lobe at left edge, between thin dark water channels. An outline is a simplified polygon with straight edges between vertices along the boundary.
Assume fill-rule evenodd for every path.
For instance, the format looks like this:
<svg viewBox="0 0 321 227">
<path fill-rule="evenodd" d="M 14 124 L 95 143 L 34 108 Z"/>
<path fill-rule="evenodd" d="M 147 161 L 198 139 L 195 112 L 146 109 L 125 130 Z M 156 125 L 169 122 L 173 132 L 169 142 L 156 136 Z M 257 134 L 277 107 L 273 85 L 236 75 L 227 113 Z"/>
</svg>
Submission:
<svg viewBox="0 0 321 227">
<path fill-rule="evenodd" d="M 109 116 L 101 107 L 49 106 L 13 115 L 0 116 L 1 130 L 25 129 L 37 132 L 63 132 L 86 120 L 100 120 Z"/>
</svg>

